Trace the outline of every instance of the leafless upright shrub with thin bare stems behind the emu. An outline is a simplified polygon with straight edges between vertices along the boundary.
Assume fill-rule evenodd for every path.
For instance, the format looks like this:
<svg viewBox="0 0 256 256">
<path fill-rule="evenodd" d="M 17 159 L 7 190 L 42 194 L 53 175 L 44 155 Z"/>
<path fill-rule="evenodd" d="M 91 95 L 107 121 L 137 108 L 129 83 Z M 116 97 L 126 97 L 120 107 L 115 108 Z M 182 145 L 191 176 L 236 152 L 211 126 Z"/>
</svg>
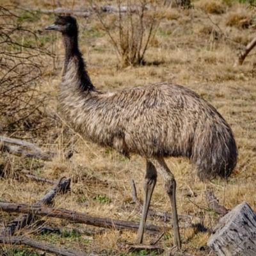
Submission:
<svg viewBox="0 0 256 256">
<path fill-rule="evenodd" d="M 122 5 L 117 0 L 116 3 L 116 6 L 103 6 L 101 11 L 97 11 L 97 17 L 108 33 L 118 58 L 121 58 L 121 66 L 141 65 L 158 26 L 157 1 L 127 0 Z M 108 19 L 104 19 L 104 12 L 109 12 Z"/>
</svg>

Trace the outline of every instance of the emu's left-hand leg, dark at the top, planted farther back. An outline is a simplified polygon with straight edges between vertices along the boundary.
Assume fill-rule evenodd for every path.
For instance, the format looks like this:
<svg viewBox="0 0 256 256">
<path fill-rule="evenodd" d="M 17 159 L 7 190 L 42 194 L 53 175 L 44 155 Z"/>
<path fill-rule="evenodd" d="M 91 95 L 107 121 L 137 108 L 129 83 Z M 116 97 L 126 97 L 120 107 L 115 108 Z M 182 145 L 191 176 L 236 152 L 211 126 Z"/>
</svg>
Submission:
<svg viewBox="0 0 256 256">
<path fill-rule="evenodd" d="M 142 209 L 142 214 L 140 219 L 140 227 L 134 243 L 138 243 L 138 244 L 142 243 L 145 223 L 147 220 L 148 207 L 150 204 L 153 190 L 156 185 L 156 178 L 157 178 L 156 168 L 150 161 L 147 160 L 147 172 L 146 172 L 145 182 L 143 186 L 145 190 L 145 198 L 143 202 L 143 209 Z"/>
</svg>

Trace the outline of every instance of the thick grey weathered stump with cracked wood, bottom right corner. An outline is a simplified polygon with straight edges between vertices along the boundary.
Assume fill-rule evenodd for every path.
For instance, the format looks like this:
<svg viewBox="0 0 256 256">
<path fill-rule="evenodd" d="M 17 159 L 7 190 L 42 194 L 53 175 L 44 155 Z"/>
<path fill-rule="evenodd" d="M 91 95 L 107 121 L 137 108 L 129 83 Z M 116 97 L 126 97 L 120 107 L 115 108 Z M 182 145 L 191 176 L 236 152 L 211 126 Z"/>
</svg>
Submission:
<svg viewBox="0 0 256 256">
<path fill-rule="evenodd" d="M 254 256 L 256 214 L 243 202 L 221 218 L 207 245 L 218 256 Z"/>
</svg>

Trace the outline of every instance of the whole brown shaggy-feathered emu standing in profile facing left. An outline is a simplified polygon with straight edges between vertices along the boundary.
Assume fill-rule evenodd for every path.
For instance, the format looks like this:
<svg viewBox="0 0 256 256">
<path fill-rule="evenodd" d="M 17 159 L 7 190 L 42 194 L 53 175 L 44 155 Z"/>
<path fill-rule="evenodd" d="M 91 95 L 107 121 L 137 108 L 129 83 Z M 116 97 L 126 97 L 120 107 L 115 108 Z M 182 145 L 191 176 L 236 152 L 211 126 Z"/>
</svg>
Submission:
<svg viewBox="0 0 256 256">
<path fill-rule="evenodd" d="M 237 160 L 232 131 L 206 100 L 183 86 L 157 83 L 121 92 L 95 89 L 78 47 L 76 18 L 58 16 L 45 29 L 60 31 L 65 62 L 60 100 L 69 122 L 85 138 L 129 157 L 147 159 L 145 200 L 135 243 L 142 243 L 157 173 L 164 180 L 173 214 L 173 243 L 181 248 L 176 182 L 164 157 L 188 157 L 201 180 L 227 178 Z"/>
</svg>

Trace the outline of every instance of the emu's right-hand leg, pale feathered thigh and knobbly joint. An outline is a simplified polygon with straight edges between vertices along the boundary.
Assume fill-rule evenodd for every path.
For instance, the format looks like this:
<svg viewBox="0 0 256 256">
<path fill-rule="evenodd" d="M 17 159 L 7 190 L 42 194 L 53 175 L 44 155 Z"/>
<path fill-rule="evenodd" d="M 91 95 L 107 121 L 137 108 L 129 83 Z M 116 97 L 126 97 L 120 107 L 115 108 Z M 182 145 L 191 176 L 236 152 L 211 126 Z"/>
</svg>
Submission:
<svg viewBox="0 0 256 256">
<path fill-rule="evenodd" d="M 181 248 L 180 231 L 178 223 L 177 205 L 176 205 L 176 181 L 174 176 L 163 158 L 150 159 L 154 166 L 156 166 L 157 172 L 161 173 L 166 192 L 170 198 L 172 208 L 172 225 L 173 225 L 173 244 L 177 245 L 177 248 Z"/>
</svg>

